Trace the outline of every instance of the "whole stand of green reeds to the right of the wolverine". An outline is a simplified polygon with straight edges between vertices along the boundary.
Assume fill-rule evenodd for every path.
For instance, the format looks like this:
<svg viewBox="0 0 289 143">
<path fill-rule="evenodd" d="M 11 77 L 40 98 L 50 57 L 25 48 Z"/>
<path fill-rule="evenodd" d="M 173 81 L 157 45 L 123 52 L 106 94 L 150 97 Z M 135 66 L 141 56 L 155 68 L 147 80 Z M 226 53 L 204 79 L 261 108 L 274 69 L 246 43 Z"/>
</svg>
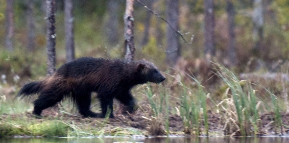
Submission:
<svg viewBox="0 0 289 143">
<path fill-rule="evenodd" d="M 179 114 L 183 120 L 184 132 L 186 134 L 202 134 L 200 132 L 201 123 L 204 123 L 204 133 L 209 135 L 209 121 L 207 101 L 212 101 L 215 106 L 212 110 L 221 110 L 221 116 L 224 117 L 223 122 L 225 134 L 230 136 L 251 136 L 257 135 L 260 128 L 260 104 L 263 104 L 262 99 L 256 94 L 254 87 L 259 86 L 251 83 L 249 80 L 240 80 L 233 71 L 230 71 L 219 64 L 215 64 L 217 75 L 221 78 L 223 86 L 227 90 L 223 93 L 221 102 L 218 104 L 212 100 L 208 93 L 204 90 L 201 83 L 195 78 L 187 74 L 190 82 L 177 81 L 177 90 L 168 90 L 167 85 L 158 88 L 156 91 L 159 95 L 153 94 L 153 88 L 148 85 L 145 89 L 145 94 L 150 103 L 154 117 L 158 114 L 165 114 L 169 117 L 166 109 L 169 109 L 172 104 L 168 104 L 169 99 L 173 98 L 177 103 Z M 170 75 L 174 78 L 173 75 Z M 270 92 L 266 90 L 268 94 Z M 161 92 L 161 93 L 160 93 Z M 177 93 L 173 93 L 177 92 Z M 164 94 L 162 94 L 164 93 Z M 179 95 L 179 96 L 172 96 Z M 277 98 L 276 96 L 274 96 Z M 165 102 L 164 102 L 165 98 Z M 275 114 L 275 126 L 281 126 L 280 107 L 277 105 L 277 99 L 271 99 Z M 270 105 L 270 104 L 269 104 Z M 165 107 L 165 111 L 163 111 Z M 168 126 L 167 126 L 168 128 Z"/>
</svg>

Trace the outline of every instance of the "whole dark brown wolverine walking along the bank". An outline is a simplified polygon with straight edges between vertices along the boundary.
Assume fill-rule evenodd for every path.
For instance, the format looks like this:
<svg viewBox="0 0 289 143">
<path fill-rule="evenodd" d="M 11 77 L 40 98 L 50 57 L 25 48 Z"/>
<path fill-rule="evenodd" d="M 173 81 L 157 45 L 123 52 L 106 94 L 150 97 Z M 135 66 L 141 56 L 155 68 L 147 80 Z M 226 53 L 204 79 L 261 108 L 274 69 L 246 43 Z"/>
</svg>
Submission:
<svg viewBox="0 0 289 143">
<path fill-rule="evenodd" d="M 34 101 L 33 114 L 53 106 L 64 97 L 72 98 L 80 114 L 85 117 L 104 118 L 108 108 L 113 118 L 113 99 L 132 112 L 135 100 L 130 89 L 146 82 L 160 83 L 166 78 L 150 62 L 80 58 L 61 66 L 52 76 L 24 85 L 18 96 L 39 94 Z M 91 93 L 96 92 L 101 114 L 90 111 Z"/>
</svg>

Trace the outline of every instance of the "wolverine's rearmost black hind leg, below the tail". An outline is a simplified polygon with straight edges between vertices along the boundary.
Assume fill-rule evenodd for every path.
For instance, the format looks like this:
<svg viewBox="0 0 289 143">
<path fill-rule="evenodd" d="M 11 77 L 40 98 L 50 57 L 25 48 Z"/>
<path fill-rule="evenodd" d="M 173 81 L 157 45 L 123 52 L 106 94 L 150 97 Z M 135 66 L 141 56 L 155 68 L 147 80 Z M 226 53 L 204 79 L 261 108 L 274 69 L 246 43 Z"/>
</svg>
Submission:
<svg viewBox="0 0 289 143">
<path fill-rule="evenodd" d="M 54 95 L 53 93 L 42 93 L 34 101 L 33 115 L 41 117 L 42 110 L 55 105 L 63 99 L 63 94 Z"/>
</svg>

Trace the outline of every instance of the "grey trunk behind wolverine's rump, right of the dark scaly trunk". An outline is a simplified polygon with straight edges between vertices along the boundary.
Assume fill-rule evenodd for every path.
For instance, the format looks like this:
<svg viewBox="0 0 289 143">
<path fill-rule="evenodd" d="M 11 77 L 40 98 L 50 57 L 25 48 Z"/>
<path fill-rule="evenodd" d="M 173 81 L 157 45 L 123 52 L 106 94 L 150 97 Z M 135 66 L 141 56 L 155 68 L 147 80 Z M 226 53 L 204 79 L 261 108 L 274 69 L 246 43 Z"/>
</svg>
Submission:
<svg viewBox="0 0 289 143">
<path fill-rule="evenodd" d="M 72 0 L 64 1 L 65 12 L 65 47 L 66 62 L 71 62 L 75 58 L 74 54 L 74 32 L 73 32 L 73 3 Z"/>
</svg>

